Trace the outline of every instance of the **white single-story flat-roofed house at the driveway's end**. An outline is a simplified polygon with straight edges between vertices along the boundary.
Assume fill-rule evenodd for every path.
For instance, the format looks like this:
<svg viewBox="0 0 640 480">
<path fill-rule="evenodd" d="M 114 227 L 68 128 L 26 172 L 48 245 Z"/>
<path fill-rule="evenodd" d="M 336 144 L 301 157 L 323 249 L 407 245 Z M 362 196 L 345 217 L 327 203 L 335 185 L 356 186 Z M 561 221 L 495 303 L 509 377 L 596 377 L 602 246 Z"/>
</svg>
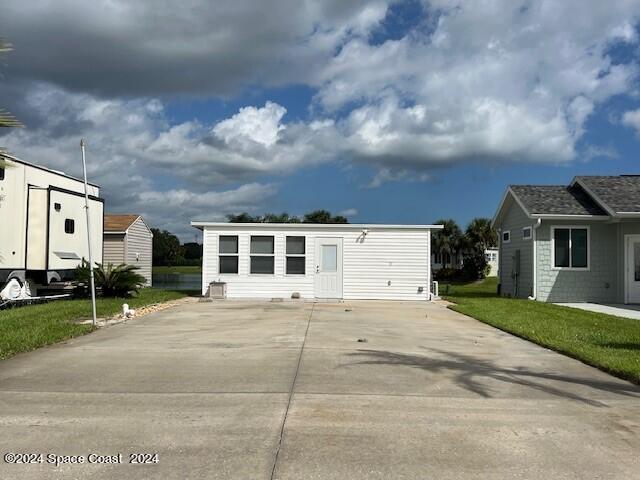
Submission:
<svg viewBox="0 0 640 480">
<path fill-rule="evenodd" d="M 430 300 L 439 225 L 191 222 L 203 231 L 202 293 L 227 298 Z"/>
</svg>

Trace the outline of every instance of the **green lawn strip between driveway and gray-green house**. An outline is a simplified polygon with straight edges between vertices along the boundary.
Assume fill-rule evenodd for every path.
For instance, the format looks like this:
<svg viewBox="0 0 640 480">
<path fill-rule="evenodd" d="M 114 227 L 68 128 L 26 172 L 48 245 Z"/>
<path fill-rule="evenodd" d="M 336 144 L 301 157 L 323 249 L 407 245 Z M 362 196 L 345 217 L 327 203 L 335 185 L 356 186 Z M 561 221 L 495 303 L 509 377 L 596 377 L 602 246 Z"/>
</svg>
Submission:
<svg viewBox="0 0 640 480">
<path fill-rule="evenodd" d="M 640 384 L 640 321 L 498 297 L 496 279 L 441 286 L 450 308 Z"/>
</svg>

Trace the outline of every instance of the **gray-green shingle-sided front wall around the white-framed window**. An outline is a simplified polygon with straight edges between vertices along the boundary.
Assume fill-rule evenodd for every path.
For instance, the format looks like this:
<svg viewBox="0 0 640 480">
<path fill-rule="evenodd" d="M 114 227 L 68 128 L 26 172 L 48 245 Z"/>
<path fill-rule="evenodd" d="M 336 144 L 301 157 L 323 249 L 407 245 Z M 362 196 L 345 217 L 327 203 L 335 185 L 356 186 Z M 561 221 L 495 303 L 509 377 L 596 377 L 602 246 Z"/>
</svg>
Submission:
<svg viewBox="0 0 640 480">
<path fill-rule="evenodd" d="M 589 270 L 552 268 L 551 228 L 589 226 Z M 616 302 L 618 298 L 617 226 L 602 222 L 544 221 L 537 230 L 538 294 L 545 302 Z"/>
</svg>

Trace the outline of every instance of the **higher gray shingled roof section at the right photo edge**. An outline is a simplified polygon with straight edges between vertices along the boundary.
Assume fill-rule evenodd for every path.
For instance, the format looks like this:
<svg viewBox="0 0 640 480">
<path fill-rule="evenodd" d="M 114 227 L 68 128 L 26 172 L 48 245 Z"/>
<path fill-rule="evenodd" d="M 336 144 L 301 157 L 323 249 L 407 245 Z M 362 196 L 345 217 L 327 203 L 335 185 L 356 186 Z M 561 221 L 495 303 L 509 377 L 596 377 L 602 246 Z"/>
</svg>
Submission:
<svg viewBox="0 0 640 480">
<path fill-rule="evenodd" d="M 640 212 L 640 176 L 584 176 L 576 180 L 614 212 Z"/>
</svg>

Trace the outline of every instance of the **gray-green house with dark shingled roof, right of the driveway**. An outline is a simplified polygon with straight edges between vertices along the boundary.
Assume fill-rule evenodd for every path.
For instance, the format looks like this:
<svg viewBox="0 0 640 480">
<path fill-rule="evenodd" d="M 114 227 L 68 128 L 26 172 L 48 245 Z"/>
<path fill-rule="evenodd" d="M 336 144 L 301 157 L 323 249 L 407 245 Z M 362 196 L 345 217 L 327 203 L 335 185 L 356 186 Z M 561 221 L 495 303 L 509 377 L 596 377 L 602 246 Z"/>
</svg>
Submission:
<svg viewBox="0 0 640 480">
<path fill-rule="evenodd" d="M 512 185 L 493 225 L 502 295 L 640 303 L 640 176 Z"/>
</svg>

